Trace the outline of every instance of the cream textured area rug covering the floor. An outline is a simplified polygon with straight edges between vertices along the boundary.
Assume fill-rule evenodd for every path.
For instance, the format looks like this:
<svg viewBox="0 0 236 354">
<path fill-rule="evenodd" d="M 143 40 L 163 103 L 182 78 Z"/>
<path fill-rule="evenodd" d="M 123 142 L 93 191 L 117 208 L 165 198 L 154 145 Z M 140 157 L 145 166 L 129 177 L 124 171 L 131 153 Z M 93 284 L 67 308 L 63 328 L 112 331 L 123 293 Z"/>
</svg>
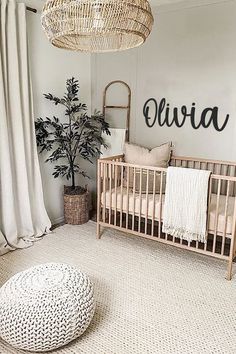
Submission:
<svg viewBox="0 0 236 354">
<path fill-rule="evenodd" d="M 226 263 L 96 224 L 65 225 L 0 258 L 0 285 L 16 272 L 63 262 L 87 273 L 97 308 L 85 334 L 58 354 L 236 353 L 236 275 Z M 1 354 L 25 353 L 0 341 Z"/>
</svg>

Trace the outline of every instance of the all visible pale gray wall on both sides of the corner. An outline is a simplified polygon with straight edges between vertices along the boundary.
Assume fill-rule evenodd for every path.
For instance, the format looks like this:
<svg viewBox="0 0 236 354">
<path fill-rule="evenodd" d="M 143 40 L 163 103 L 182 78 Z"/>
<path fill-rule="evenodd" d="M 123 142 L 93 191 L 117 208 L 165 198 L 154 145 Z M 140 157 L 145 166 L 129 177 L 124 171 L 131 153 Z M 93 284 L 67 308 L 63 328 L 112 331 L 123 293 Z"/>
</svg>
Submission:
<svg viewBox="0 0 236 354">
<path fill-rule="evenodd" d="M 147 43 L 122 53 L 92 55 L 52 47 L 40 24 L 40 14 L 28 13 L 29 52 L 35 117 L 63 111 L 43 98 L 43 93 L 62 94 L 65 80 L 74 75 L 81 84 L 81 99 L 92 109 L 102 109 L 102 94 L 107 83 L 121 79 L 132 89 L 131 141 L 153 147 L 172 140 L 178 154 L 234 160 L 236 157 L 236 2 L 185 8 L 189 2 L 161 7 Z M 201 1 L 202 4 L 202 1 Z M 173 105 L 198 107 L 218 105 L 230 123 L 222 133 L 214 129 L 195 131 L 188 124 L 181 128 L 148 128 L 142 115 L 146 99 L 166 97 Z M 126 92 L 113 90 L 111 103 L 123 104 Z M 112 126 L 124 125 L 124 115 L 108 115 Z M 45 203 L 53 223 L 63 219 L 62 191 L 66 181 L 54 180 L 53 167 L 40 157 Z M 95 189 L 95 166 L 86 166 Z M 86 183 L 80 179 L 79 183 Z"/>
</svg>

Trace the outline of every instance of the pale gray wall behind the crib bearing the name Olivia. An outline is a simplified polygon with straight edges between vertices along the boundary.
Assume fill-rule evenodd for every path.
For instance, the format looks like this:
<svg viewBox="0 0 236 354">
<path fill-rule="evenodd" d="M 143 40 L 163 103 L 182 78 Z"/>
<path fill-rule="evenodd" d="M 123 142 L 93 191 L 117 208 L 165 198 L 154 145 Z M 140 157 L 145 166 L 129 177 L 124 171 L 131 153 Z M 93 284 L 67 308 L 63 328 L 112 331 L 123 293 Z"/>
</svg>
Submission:
<svg viewBox="0 0 236 354">
<path fill-rule="evenodd" d="M 92 57 L 92 104 L 101 108 L 105 85 L 116 79 L 132 89 L 131 141 L 154 147 L 173 141 L 176 154 L 235 160 L 236 134 L 236 2 L 179 10 L 168 7 L 155 12 L 155 26 L 145 45 L 127 52 Z M 145 101 L 167 98 L 171 106 L 196 102 L 197 117 L 206 107 L 219 106 L 219 121 L 230 114 L 229 124 L 219 133 L 211 126 L 193 130 L 148 128 L 142 114 Z M 122 101 L 120 90 L 111 93 L 112 103 Z M 116 126 L 122 117 L 108 119 Z M 119 123 L 117 123 L 119 122 Z M 122 124 L 122 123 L 121 123 Z"/>
</svg>

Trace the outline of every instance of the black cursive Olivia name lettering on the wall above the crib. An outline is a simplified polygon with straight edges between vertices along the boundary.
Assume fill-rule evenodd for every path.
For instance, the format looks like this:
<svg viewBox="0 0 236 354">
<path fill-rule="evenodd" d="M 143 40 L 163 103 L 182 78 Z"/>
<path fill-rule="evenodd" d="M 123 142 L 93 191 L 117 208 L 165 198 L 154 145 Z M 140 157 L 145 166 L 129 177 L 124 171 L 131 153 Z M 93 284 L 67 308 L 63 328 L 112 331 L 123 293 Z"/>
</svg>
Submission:
<svg viewBox="0 0 236 354">
<path fill-rule="evenodd" d="M 152 114 L 150 114 L 150 110 L 152 110 Z M 147 100 L 143 107 L 143 115 L 149 128 L 152 128 L 156 121 L 160 127 L 164 125 L 167 127 L 176 125 L 176 127 L 181 128 L 185 124 L 186 119 L 189 118 L 193 129 L 199 129 L 200 127 L 209 128 L 210 125 L 213 125 L 215 130 L 221 132 L 225 129 L 229 121 L 229 114 L 227 114 L 224 123 L 219 124 L 218 107 L 205 108 L 201 113 L 200 120 L 197 120 L 195 103 L 192 104 L 190 110 L 188 110 L 186 106 L 182 106 L 181 108 L 173 107 L 171 109 L 170 104 L 166 103 L 165 98 L 161 99 L 159 105 L 155 98 Z"/>
</svg>

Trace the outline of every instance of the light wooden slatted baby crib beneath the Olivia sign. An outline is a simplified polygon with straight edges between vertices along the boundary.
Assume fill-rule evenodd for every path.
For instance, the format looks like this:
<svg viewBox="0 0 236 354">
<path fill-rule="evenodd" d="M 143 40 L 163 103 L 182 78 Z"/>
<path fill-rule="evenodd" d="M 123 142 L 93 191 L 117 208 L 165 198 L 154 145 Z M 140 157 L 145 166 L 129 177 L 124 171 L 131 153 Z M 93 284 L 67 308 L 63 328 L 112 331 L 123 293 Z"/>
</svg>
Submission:
<svg viewBox="0 0 236 354">
<path fill-rule="evenodd" d="M 173 156 L 171 165 L 212 171 L 206 243 L 187 242 L 162 233 L 163 187 L 167 169 L 127 164 L 123 162 L 123 155 L 98 160 L 97 237 L 101 237 L 101 227 L 111 227 L 224 259 L 228 261 L 227 279 L 230 280 L 236 256 L 236 163 Z M 160 181 L 158 192 L 157 178 Z M 146 181 L 146 193 L 142 190 L 142 179 Z M 150 180 L 153 183 L 152 193 Z"/>
</svg>

